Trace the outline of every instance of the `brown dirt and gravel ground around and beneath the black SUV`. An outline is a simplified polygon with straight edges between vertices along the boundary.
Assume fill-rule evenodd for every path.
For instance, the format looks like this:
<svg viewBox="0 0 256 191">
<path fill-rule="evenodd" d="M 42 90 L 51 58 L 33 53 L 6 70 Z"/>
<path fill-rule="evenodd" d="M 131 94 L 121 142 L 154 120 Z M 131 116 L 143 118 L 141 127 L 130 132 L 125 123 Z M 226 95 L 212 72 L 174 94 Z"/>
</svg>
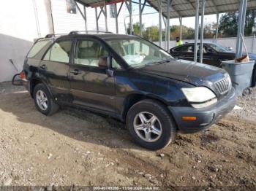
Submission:
<svg viewBox="0 0 256 191">
<path fill-rule="evenodd" d="M 70 108 L 46 117 L 23 87 L 1 83 L 0 186 L 256 187 L 255 101 L 253 90 L 217 125 L 152 152 L 121 122 Z"/>
</svg>

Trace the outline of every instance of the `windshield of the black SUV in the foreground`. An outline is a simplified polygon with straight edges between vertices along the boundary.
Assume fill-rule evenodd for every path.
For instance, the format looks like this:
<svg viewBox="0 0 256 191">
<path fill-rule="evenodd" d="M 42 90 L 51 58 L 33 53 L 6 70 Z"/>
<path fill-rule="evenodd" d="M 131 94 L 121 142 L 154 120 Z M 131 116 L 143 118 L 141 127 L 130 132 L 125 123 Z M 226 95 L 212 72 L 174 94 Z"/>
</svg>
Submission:
<svg viewBox="0 0 256 191">
<path fill-rule="evenodd" d="M 159 64 L 173 58 L 164 50 L 144 39 L 108 39 L 106 42 L 118 55 L 132 68 L 138 68 L 147 64 Z"/>
</svg>

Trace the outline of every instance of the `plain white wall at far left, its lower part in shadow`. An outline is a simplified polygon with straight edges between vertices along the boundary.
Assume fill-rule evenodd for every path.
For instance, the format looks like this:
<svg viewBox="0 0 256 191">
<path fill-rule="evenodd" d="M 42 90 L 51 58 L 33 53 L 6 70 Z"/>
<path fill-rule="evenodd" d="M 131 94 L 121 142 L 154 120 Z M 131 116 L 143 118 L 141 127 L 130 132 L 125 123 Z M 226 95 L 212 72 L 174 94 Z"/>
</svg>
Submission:
<svg viewBox="0 0 256 191">
<path fill-rule="evenodd" d="M 42 33 L 48 31 L 45 22 L 45 1 L 37 0 L 38 18 Z M 33 0 L 8 0 L 1 1 L 0 11 L 0 82 L 12 79 L 18 71 L 11 65 L 9 59 L 15 63 L 20 71 L 24 58 L 38 38 L 37 23 L 34 12 Z M 4 8 L 3 8 L 4 7 Z"/>
</svg>

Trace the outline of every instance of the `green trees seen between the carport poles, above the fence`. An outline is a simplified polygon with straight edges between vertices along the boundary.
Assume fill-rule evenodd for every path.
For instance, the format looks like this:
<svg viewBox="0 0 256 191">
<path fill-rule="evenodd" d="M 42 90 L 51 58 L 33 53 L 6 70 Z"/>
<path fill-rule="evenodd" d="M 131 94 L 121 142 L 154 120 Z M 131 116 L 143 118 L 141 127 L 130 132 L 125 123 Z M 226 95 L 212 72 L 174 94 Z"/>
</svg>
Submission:
<svg viewBox="0 0 256 191">
<path fill-rule="evenodd" d="M 227 12 L 219 19 L 219 36 L 236 36 L 238 29 L 238 12 Z M 248 10 L 246 12 L 246 23 L 244 34 L 246 36 L 256 34 L 256 9 Z M 129 25 L 127 32 L 129 34 Z M 159 27 L 142 26 L 143 38 L 153 42 L 159 41 Z M 180 26 L 170 26 L 170 39 L 176 39 L 180 35 Z M 217 30 L 217 23 L 206 23 L 204 26 L 204 38 L 214 38 Z M 133 31 L 135 35 L 140 36 L 140 23 L 133 24 Z M 200 37 L 200 26 L 199 26 Z M 182 26 L 182 39 L 194 39 L 195 29 L 187 26 Z M 162 40 L 165 40 L 165 29 L 162 30 Z"/>
</svg>

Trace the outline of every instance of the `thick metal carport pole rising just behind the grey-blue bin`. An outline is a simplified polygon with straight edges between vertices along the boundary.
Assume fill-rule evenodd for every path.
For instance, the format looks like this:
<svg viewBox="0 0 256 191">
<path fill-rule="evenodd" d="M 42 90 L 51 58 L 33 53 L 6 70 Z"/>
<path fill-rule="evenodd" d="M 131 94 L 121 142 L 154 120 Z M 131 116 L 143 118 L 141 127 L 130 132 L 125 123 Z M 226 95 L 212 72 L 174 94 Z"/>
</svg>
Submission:
<svg viewBox="0 0 256 191">
<path fill-rule="evenodd" d="M 246 6 L 247 6 L 247 0 L 241 0 L 240 6 L 239 6 L 239 16 L 238 16 L 238 33 L 237 33 L 237 39 L 236 39 L 236 58 L 239 58 L 242 55 L 241 36 L 244 36 Z"/>
</svg>

